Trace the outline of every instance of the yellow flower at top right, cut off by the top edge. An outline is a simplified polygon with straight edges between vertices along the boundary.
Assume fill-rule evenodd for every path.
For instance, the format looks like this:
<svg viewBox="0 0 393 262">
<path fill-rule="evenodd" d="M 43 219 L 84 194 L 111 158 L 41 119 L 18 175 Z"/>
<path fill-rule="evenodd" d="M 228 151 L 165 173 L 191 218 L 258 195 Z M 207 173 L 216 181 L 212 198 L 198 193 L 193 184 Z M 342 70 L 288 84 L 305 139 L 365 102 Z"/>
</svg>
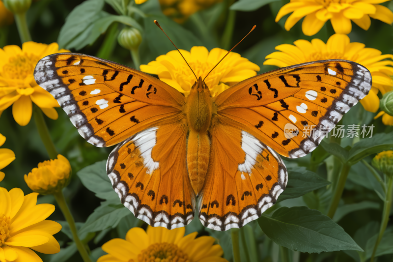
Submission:
<svg viewBox="0 0 393 262">
<path fill-rule="evenodd" d="M 352 30 L 351 20 L 365 30 L 371 25 L 370 17 L 392 24 L 392 11 L 378 4 L 386 1 L 388 0 L 291 0 L 281 7 L 276 22 L 293 12 L 285 21 L 287 31 L 305 17 L 302 23 L 305 35 L 316 34 L 328 20 L 332 22 L 336 33 L 348 34 Z"/>
</svg>

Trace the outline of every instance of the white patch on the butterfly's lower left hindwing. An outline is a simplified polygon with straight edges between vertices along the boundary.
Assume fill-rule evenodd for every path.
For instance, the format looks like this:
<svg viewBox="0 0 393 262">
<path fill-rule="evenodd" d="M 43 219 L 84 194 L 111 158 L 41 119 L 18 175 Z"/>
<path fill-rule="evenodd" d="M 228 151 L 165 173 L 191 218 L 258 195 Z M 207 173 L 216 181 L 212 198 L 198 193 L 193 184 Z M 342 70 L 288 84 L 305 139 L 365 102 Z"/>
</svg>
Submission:
<svg viewBox="0 0 393 262">
<path fill-rule="evenodd" d="M 158 169 L 160 166 L 159 162 L 156 162 L 151 157 L 151 151 L 156 145 L 156 130 L 158 127 L 152 127 L 142 132 L 138 133 L 133 141 L 135 146 L 139 147 L 140 155 L 143 157 L 143 164 L 147 168 L 147 172 L 152 174 L 154 170 Z"/>
</svg>

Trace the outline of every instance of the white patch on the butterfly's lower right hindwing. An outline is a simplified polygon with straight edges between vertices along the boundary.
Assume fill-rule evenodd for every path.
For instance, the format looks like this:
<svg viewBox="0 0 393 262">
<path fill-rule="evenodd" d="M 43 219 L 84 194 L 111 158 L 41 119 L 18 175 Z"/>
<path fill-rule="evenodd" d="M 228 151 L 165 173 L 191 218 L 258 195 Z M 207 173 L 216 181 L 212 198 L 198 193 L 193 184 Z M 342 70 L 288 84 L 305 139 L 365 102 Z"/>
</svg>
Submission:
<svg viewBox="0 0 393 262">
<path fill-rule="evenodd" d="M 242 131 L 242 149 L 246 153 L 246 159 L 243 164 L 239 164 L 238 170 L 251 174 L 251 170 L 256 162 L 256 157 L 262 151 L 261 143 L 253 135 Z"/>
</svg>

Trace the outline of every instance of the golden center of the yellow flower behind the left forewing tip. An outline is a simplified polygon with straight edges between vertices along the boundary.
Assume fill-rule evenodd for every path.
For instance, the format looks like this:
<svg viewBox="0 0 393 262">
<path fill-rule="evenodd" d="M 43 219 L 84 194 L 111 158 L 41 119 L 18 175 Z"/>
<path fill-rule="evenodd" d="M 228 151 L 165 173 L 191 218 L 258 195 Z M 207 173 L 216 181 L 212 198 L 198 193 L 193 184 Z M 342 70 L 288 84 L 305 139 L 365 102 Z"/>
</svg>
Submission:
<svg viewBox="0 0 393 262">
<path fill-rule="evenodd" d="M 16 55 L 3 66 L 3 77 L 10 79 L 25 79 L 32 74 L 39 58 L 33 54 Z"/>
</svg>

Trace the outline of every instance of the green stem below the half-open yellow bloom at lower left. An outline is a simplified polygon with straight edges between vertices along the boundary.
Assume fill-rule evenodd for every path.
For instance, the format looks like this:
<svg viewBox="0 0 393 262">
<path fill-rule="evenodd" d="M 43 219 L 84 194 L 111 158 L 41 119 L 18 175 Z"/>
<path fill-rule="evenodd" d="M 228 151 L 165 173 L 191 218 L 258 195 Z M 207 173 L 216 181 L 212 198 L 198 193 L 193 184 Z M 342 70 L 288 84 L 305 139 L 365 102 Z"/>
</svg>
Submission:
<svg viewBox="0 0 393 262">
<path fill-rule="evenodd" d="M 75 226 L 75 220 L 70 212 L 70 209 L 68 208 L 67 203 L 65 202 L 63 191 L 60 190 L 59 192 L 55 193 L 54 197 L 57 201 L 58 206 L 61 209 L 61 212 L 63 212 L 65 220 L 70 226 L 72 237 L 74 238 L 74 242 L 79 250 L 79 253 L 81 254 L 83 261 L 91 262 L 90 257 L 87 254 L 86 249 L 84 248 L 84 244 L 82 243 L 81 239 L 79 239 L 77 227 Z"/>
</svg>

